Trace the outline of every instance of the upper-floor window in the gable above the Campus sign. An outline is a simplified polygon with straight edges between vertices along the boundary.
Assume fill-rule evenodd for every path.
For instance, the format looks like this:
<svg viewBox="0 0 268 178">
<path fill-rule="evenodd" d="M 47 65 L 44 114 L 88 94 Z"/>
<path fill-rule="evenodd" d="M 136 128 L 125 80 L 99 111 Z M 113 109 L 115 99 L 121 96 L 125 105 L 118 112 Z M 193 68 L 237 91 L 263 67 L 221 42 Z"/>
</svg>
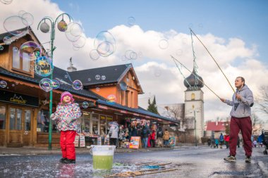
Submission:
<svg viewBox="0 0 268 178">
<path fill-rule="evenodd" d="M 25 72 L 30 72 L 30 53 L 22 52 L 20 56 L 19 50 L 16 46 L 13 46 L 12 67 Z"/>
</svg>

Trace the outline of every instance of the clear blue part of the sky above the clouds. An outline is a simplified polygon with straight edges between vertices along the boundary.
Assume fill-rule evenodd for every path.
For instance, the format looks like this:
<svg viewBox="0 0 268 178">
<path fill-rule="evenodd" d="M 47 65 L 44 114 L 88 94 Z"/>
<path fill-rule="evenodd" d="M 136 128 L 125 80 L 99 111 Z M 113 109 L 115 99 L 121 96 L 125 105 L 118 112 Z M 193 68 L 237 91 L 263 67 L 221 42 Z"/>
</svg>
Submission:
<svg viewBox="0 0 268 178">
<path fill-rule="evenodd" d="M 142 30 L 176 30 L 190 34 L 212 33 L 229 39 L 238 37 L 246 46 L 256 44 L 267 63 L 268 1 L 52 1 L 83 23 L 88 37 L 116 25 L 128 25 L 128 17 Z"/>
</svg>

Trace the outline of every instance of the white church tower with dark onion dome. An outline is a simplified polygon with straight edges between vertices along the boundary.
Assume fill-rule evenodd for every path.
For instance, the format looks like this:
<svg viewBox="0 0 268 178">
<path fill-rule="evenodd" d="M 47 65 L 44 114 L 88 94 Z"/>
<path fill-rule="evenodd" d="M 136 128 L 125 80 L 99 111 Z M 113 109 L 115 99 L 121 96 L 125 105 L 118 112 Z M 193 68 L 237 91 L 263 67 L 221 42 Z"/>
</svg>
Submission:
<svg viewBox="0 0 268 178">
<path fill-rule="evenodd" d="M 195 61 L 194 61 L 195 63 Z M 198 80 L 199 79 L 199 80 Z M 201 82 L 201 81 L 202 82 Z M 185 131 L 192 140 L 195 141 L 195 132 L 197 142 L 201 142 L 201 137 L 204 133 L 204 92 L 201 90 L 204 87 L 202 77 L 197 75 L 194 66 L 191 75 L 184 80 L 184 85 L 187 88 L 185 92 Z"/>
</svg>

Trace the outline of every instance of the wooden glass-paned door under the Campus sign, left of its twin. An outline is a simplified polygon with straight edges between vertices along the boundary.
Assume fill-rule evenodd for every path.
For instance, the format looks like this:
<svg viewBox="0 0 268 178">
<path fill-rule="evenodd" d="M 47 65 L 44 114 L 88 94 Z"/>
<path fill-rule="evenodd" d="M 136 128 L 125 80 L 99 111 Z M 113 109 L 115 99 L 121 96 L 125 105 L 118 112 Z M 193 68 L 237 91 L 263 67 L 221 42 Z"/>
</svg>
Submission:
<svg viewBox="0 0 268 178">
<path fill-rule="evenodd" d="M 8 144 L 10 147 L 23 146 L 23 110 L 21 108 L 8 108 L 8 120 L 9 120 L 9 132 L 8 132 Z"/>
</svg>

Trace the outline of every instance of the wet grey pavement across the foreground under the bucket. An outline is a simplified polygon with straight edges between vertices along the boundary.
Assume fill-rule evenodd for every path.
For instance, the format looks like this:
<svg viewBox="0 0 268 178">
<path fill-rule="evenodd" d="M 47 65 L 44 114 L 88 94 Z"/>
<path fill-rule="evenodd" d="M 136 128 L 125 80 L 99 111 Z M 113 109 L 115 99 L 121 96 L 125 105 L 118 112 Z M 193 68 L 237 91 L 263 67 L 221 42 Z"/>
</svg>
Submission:
<svg viewBox="0 0 268 178">
<path fill-rule="evenodd" d="M 59 163 L 61 154 L 12 155 L 0 154 L 0 177 L 104 177 L 118 172 L 144 170 L 140 163 L 171 163 L 166 169 L 177 169 L 139 177 L 268 177 L 268 155 L 264 148 L 253 148 L 252 163 L 245 163 L 243 148 L 238 148 L 236 163 L 226 163 L 225 148 L 195 146 L 166 150 L 145 150 L 115 153 L 113 169 L 94 170 L 92 155 L 78 153 L 76 163 Z"/>
</svg>

